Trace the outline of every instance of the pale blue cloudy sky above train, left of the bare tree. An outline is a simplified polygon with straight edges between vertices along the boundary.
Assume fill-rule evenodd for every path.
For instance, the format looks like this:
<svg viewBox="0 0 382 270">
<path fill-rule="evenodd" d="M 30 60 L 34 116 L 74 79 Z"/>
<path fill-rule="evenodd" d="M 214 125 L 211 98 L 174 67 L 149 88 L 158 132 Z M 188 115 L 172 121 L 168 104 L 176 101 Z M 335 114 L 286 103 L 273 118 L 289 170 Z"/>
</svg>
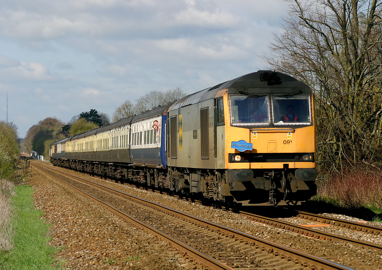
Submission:
<svg viewBox="0 0 382 270">
<path fill-rule="evenodd" d="M 47 117 L 263 70 L 282 0 L 0 0 L 0 120 L 19 137 Z"/>
</svg>

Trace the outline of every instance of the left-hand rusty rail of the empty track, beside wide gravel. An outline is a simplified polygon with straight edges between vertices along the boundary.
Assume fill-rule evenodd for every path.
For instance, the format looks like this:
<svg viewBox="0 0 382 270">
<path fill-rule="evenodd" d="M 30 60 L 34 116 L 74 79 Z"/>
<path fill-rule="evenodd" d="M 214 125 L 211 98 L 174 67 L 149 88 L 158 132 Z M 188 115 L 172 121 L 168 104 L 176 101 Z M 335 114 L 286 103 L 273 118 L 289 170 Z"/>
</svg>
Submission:
<svg viewBox="0 0 382 270">
<path fill-rule="evenodd" d="M 44 166 L 45 167 L 45 166 Z M 50 169 L 50 168 L 49 168 Z M 100 200 L 98 199 L 97 197 L 94 197 L 90 194 L 88 194 L 87 192 L 73 186 L 72 184 L 69 184 L 67 183 L 66 181 L 60 179 L 60 178 L 57 178 L 56 176 L 42 170 L 44 173 L 46 173 L 47 175 L 50 175 L 51 177 L 57 179 L 58 181 L 61 181 L 63 183 L 65 183 L 66 185 L 70 186 L 71 188 L 81 192 L 82 194 L 84 194 L 87 198 L 93 200 L 94 202 L 97 202 L 98 204 L 102 205 L 103 207 L 105 207 L 106 209 L 110 210 L 111 212 L 115 213 L 116 215 L 118 215 L 119 217 L 127 220 L 129 223 L 133 224 L 134 226 L 138 227 L 138 228 L 141 228 L 143 229 L 144 231 L 146 231 L 147 233 L 150 233 L 150 234 L 154 234 L 155 236 L 157 236 L 159 239 L 161 239 L 162 241 L 165 241 L 167 243 L 170 243 L 173 247 L 175 247 L 176 249 L 178 249 L 179 251 L 182 252 L 182 254 L 184 254 L 185 256 L 188 256 L 190 258 L 193 258 L 195 259 L 197 262 L 199 262 L 199 264 L 207 267 L 207 269 L 212 269 L 212 270 L 234 270 L 233 268 L 229 267 L 228 265 L 225 265 L 223 264 L 222 262 L 219 262 L 218 260 L 194 249 L 193 247 L 190 247 L 188 245 L 186 245 L 185 243 L 173 238 L 172 236 L 166 234 L 166 233 L 163 233 L 162 231 L 160 230 L 157 230 L 156 228 L 150 226 L 150 225 L 147 225 L 146 223 L 132 217 L 131 215 L 129 215 L 128 213 L 126 212 L 123 212 L 115 207 L 113 207 L 112 205 L 108 204 L 107 202 L 104 202 L 103 200 Z M 74 176 L 74 177 L 77 177 L 77 176 Z"/>
</svg>

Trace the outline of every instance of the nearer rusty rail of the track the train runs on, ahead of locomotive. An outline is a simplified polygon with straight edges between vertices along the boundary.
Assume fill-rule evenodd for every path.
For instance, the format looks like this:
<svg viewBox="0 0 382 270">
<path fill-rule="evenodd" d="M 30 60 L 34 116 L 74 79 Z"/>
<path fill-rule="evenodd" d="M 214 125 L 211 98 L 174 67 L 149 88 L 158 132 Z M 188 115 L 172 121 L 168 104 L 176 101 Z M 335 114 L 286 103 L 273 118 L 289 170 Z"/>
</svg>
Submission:
<svg viewBox="0 0 382 270">
<path fill-rule="evenodd" d="M 264 224 L 273 225 L 273 226 L 276 226 L 278 228 L 285 229 L 285 230 L 291 230 L 291 231 L 294 231 L 296 233 L 301 233 L 301 234 L 304 234 L 306 236 L 310 236 L 313 238 L 320 238 L 320 239 L 325 239 L 325 240 L 345 241 L 345 242 L 348 242 L 351 244 L 356 244 L 359 246 L 368 247 L 370 249 L 375 249 L 377 251 L 382 250 L 382 246 L 379 244 L 361 241 L 361 240 L 349 238 L 346 236 L 339 236 L 339 235 L 332 234 L 332 233 L 326 233 L 324 231 L 319 231 L 319 230 L 315 230 L 312 228 L 307 228 L 307 227 L 304 227 L 301 225 L 289 223 L 289 222 L 278 220 L 275 218 L 268 218 L 268 217 L 255 215 L 253 213 L 247 213 L 247 212 L 241 212 L 240 211 L 240 214 L 243 215 L 244 217 L 248 217 L 249 219 L 256 221 L 256 222 L 261 222 Z"/>
</svg>

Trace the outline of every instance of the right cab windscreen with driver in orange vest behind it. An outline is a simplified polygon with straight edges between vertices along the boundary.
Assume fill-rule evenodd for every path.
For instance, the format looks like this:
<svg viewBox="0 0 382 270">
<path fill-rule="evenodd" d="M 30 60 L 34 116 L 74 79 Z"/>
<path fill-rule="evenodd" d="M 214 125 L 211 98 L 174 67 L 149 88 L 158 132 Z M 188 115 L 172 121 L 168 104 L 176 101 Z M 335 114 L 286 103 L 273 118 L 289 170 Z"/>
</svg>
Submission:
<svg viewBox="0 0 382 270">
<path fill-rule="evenodd" d="M 273 115 L 277 125 L 311 124 L 309 95 L 273 96 Z"/>
</svg>

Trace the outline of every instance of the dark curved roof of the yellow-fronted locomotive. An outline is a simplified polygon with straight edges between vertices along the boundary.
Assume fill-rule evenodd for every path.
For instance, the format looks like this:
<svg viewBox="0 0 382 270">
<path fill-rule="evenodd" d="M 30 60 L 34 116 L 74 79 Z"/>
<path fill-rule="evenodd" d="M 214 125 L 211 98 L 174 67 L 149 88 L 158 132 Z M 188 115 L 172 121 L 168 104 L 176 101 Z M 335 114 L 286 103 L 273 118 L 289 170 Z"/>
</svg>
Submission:
<svg viewBox="0 0 382 270">
<path fill-rule="evenodd" d="M 268 73 L 268 75 L 270 75 L 271 78 L 268 80 L 264 79 L 265 73 Z M 217 92 L 227 88 L 240 89 L 241 91 L 247 90 L 249 88 L 252 88 L 252 89 L 262 88 L 262 89 L 267 89 L 267 91 L 264 90 L 264 92 L 277 93 L 277 92 L 285 92 L 285 90 L 282 90 L 285 88 L 299 87 L 299 89 L 301 88 L 301 91 L 303 91 L 304 93 L 311 92 L 309 86 L 307 86 L 303 82 L 300 82 L 287 74 L 277 72 L 275 73 L 276 75 L 274 75 L 272 73 L 275 73 L 275 72 L 271 70 L 259 70 L 257 72 L 240 76 L 236 79 L 232 79 L 230 81 L 222 82 L 216 86 L 206 88 L 202 91 L 188 95 L 184 97 L 183 99 L 176 101 L 172 105 L 170 111 L 176 110 L 181 107 L 186 107 L 188 105 L 195 104 L 198 102 L 202 102 L 205 100 L 213 99 L 216 96 Z M 274 80 L 272 81 L 272 79 Z M 287 91 L 290 91 L 290 89 Z M 234 92 L 237 92 L 237 91 L 235 90 L 230 91 L 230 93 L 234 93 Z"/>
</svg>

